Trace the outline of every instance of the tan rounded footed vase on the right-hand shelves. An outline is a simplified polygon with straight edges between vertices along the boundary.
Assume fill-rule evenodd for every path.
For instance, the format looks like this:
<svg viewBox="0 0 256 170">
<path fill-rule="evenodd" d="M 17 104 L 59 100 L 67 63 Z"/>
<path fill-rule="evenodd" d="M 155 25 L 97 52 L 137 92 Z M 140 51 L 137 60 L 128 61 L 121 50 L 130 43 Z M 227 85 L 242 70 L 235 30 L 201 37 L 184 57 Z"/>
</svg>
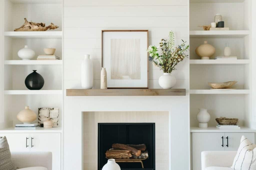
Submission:
<svg viewBox="0 0 256 170">
<path fill-rule="evenodd" d="M 208 44 L 207 41 L 204 42 L 204 44 L 200 45 L 196 48 L 196 54 L 201 57 L 201 59 L 210 59 L 212 55 L 215 53 L 215 48 Z"/>
</svg>

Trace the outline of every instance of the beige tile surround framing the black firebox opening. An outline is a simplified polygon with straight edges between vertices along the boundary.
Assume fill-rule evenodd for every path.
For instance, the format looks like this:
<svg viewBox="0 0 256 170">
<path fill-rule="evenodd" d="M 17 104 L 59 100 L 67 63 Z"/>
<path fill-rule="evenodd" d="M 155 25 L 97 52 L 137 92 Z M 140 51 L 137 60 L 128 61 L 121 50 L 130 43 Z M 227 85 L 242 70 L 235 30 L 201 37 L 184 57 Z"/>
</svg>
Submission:
<svg viewBox="0 0 256 170">
<path fill-rule="evenodd" d="M 169 112 L 83 112 L 83 167 L 98 169 L 98 123 L 155 123 L 156 169 L 169 169 Z"/>
</svg>

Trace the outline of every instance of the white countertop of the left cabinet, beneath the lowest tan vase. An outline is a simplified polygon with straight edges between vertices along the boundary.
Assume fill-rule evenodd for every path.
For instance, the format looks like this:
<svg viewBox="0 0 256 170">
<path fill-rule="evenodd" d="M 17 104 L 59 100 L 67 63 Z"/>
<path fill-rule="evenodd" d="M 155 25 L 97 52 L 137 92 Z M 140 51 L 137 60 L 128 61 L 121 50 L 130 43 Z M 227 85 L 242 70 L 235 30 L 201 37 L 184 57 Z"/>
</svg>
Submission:
<svg viewBox="0 0 256 170">
<path fill-rule="evenodd" d="M 0 133 L 61 133 L 61 127 L 43 128 L 38 127 L 36 129 L 14 129 L 14 127 L 0 129 Z"/>
</svg>

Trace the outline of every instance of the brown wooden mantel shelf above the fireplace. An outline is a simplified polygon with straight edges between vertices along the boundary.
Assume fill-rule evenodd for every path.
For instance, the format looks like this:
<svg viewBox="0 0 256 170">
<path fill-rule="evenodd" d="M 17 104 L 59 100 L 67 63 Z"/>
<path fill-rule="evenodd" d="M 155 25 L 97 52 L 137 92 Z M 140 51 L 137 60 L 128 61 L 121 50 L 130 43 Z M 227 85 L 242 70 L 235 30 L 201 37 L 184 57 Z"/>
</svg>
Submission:
<svg viewBox="0 0 256 170">
<path fill-rule="evenodd" d="M 67 89 L 67 96 L 186 96 L 186 89 Z"/>
</svg>

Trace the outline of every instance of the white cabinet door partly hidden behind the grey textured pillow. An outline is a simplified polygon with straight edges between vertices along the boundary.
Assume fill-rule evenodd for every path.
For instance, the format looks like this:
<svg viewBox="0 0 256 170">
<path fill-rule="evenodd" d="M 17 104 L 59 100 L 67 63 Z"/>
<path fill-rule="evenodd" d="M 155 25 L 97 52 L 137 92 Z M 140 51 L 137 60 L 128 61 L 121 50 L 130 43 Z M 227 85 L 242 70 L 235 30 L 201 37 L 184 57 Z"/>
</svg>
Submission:
<svg viewBox="0 0 256 170">
<path fill-rule="evenodd" d="M 6 136 L 10 151 L 30 151 L 29 133 L 1 133 Z"/>
</svg>

